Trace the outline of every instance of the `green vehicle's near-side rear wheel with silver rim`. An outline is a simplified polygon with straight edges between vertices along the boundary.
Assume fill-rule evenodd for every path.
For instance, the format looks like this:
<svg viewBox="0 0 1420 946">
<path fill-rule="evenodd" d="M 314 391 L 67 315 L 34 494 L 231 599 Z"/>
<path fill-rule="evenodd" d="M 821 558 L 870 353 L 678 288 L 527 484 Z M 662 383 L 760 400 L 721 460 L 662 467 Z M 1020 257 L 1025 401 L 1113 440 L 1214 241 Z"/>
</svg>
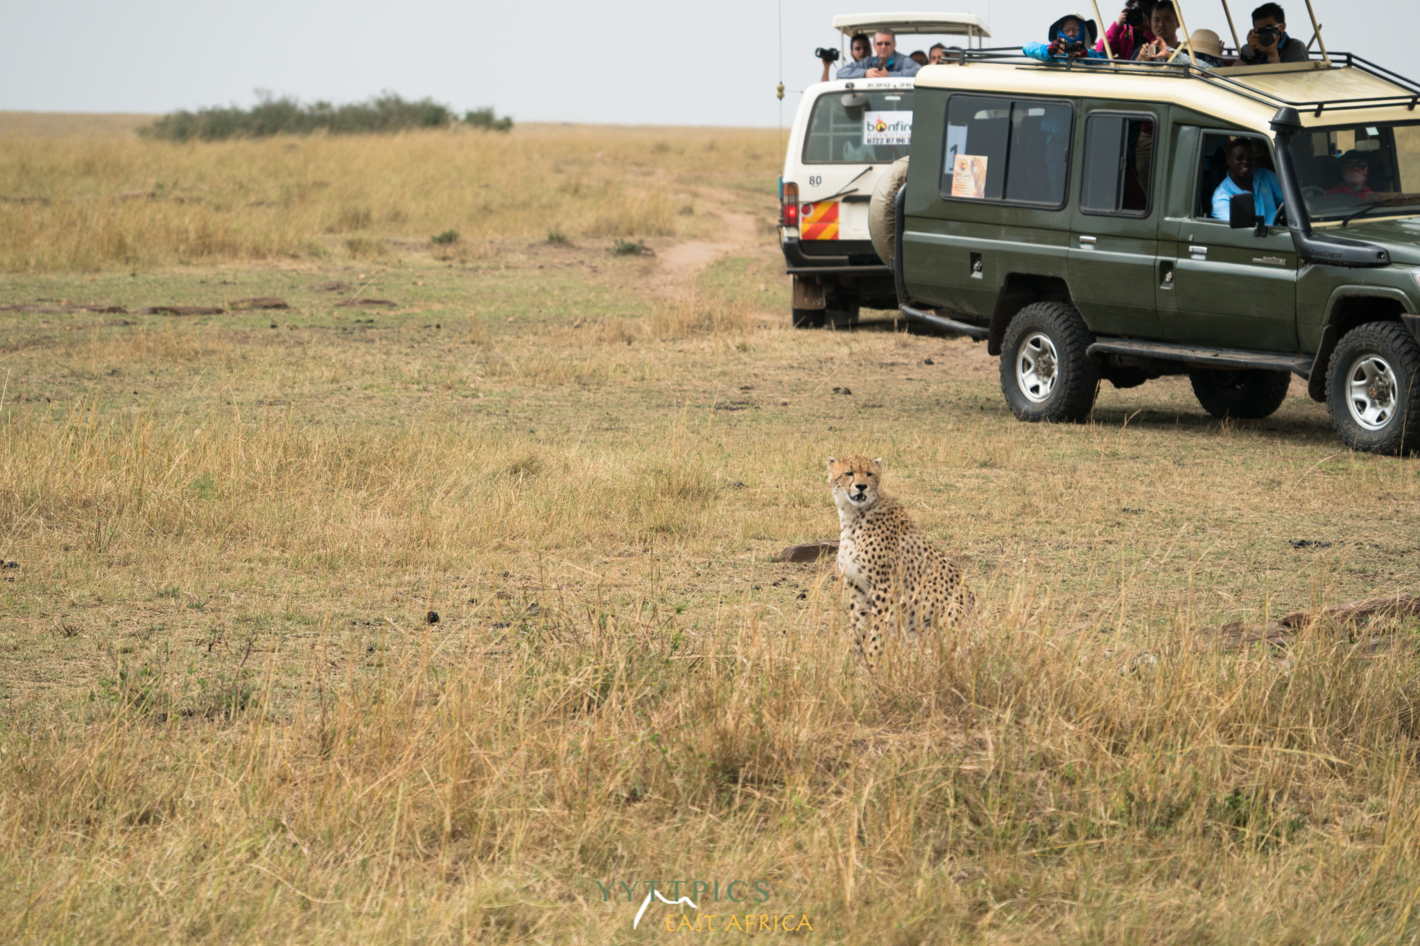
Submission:
<svg viewBox="0 0 1420 946">
<path fill-rule="evenodd" d="M 1001 340 L 1001 393 L 1017 420 L 1089 418 L 1100 379 L 1100 366 L 1085 353 L 1093 340 L 1065 302 L 1034 302 L 1015 313 Z M 1031 367 L 1022 377 L 1024 365 Z"/>
</svg>

